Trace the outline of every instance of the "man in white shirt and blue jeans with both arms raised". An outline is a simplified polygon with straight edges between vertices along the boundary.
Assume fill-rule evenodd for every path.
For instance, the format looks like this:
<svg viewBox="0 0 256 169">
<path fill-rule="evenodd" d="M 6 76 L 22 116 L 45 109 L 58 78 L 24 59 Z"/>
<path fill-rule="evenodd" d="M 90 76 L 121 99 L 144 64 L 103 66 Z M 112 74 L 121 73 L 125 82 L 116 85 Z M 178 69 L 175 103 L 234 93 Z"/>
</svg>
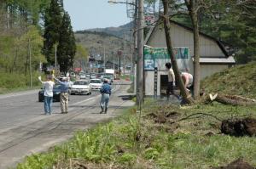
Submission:
<svg viewBox="0 0 256 169">
<path fill-rule="evenodd" d="M 47 76 L 47 81 L 43 82 L 41 76 L 38 76 L 38 80 L 44 85 L 44 115 L 51 115 L 51 106 L 53 100 L 53 87 L 55 82 L 52 81 L 51 75 Z"/>
</svg>

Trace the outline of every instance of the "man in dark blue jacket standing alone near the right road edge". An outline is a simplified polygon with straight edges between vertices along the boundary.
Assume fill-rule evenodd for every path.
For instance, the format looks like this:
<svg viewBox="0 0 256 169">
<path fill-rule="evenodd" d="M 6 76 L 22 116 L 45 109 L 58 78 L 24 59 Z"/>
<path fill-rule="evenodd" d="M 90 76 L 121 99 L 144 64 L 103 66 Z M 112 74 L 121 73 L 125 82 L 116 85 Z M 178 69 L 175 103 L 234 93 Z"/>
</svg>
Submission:
<svg viewBox="0 0 256 169">
<path fill-rule="evenodd" d="M 100 92 L 102 93 L 102 99 L 101 99 L 102 111 L 100 113 L 101 114 L 103 112 L 107 113 L 109 96 L 111 95 L 111 87 L 108 84 L 108 79 L 104 79 L 104 82 L 103 82 L 103 85 L 102 85 L 102 88 L 101 88 Z"/>
</svg>

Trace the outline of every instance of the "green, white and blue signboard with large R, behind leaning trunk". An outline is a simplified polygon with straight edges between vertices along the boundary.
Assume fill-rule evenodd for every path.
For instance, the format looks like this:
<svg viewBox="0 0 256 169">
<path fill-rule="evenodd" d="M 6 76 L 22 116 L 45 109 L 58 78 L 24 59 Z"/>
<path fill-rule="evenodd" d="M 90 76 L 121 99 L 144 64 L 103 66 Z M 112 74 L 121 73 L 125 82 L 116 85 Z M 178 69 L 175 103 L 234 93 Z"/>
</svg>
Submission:
<svg viewBox="0 0 256 169">
<path fill-rule="evenodd" d="M 189 63 L 189 48 L 173 48 L 173 53 L 177 59 L 177 63 L 181 63 L 183 67 L 187 67 Z M 170 62 L 170 55 L 167 48 L 150 48 L 144 47 L 144 70 L 154 71 L 157 67 L 160 70 L 162 65 Z"/>
</svg>

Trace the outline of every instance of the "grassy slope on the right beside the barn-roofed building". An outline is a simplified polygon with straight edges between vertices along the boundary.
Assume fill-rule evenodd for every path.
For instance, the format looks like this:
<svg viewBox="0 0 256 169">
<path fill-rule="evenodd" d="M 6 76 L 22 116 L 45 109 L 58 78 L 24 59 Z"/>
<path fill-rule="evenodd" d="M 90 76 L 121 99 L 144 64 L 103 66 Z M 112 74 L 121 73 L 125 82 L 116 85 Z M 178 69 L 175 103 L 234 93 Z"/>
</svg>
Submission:
<svg viewBox="0 0 256 169">
<path fill-rule="evenodd" d="M 207 93 L 225 93 L 256 99 L 256 62 L 235 66 L 207 77 L 201 87 Z"/>
</svg>

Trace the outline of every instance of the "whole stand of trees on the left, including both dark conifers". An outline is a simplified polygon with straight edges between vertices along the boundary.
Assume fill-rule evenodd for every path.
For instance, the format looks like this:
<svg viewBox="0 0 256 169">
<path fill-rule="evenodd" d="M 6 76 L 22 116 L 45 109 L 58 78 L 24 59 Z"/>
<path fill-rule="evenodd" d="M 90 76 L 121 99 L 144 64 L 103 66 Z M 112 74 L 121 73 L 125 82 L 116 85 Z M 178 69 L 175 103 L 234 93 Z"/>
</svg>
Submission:
<svg viewBox="0 0 256 169">
<path fill-rule="evenodd" d="M 0 2 L 1 72 L 48 70 L 55 64 L 55 50 L 59 70 L 72 68 L 76 44 L 63 0 Z"/>
</svg>

